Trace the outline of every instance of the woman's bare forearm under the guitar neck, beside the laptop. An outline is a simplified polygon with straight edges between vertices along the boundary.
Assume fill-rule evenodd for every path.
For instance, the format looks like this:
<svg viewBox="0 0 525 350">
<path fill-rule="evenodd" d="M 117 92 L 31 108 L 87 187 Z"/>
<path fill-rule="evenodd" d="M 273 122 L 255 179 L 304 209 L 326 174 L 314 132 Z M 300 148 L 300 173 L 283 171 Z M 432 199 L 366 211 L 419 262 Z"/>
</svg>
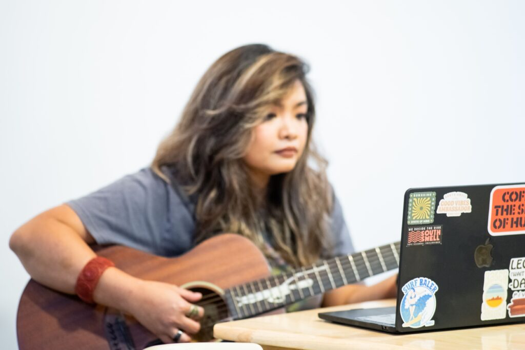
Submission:
<svg viewBox="0 0 525 350">
<path fill-rule="evenodd" d="M 349 284 L 324 294 L 322 306 L 359 303 L 362 301 L 395 298 L 397 274 L 379 283 L 367 286 Z"/>
</svg>

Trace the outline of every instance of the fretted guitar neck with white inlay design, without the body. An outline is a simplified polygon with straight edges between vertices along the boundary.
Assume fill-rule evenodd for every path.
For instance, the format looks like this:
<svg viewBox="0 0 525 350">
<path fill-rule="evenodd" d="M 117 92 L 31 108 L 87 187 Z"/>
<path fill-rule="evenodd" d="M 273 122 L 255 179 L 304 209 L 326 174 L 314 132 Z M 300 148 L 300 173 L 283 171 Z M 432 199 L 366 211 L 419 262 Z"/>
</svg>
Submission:
<svg viewBox="0 0 525 350">
<path fill-rule="evenodd" d="M 225 291 L 232 319 L 245 319 L 399 267 L 400 242 L 322 260 Z"/>
</svg>

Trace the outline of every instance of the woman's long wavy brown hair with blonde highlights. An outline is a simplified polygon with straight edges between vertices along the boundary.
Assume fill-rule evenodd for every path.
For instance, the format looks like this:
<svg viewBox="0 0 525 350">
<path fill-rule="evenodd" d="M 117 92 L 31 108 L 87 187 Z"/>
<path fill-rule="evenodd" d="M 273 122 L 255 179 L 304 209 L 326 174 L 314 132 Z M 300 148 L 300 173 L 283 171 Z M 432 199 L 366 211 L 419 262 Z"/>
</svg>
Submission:
<svg viewBox="0 0 525 350">
<path fill-rule="evenodd" d="M 332 191 L 327 161 L 311 140 L 316 115 L 307 72 L 298 57 L 254 44 L 227 52 L 198 82 L 152 163 L 167 182 L 161 167 L 171 167 L 186 194 L 196 196 L 197 242 L 235 232 L 263 251 L 270 241 L 292 266 L 312 263 L 330 248 Z M 307 143 L 292 171 L 270 177 L 261 205 L 243 156 L 265 110 L 297 80 L 308 102 Z"/>
</svg>

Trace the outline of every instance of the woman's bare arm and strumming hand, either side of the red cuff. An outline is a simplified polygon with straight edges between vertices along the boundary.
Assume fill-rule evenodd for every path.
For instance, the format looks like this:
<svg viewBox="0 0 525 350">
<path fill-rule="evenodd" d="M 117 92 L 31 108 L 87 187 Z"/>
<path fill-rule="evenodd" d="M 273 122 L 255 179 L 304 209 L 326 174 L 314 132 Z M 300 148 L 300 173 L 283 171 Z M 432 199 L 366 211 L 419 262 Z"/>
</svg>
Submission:
<svg viewBox="0 0 525 350">
<path fill-rule="evenodd" d="M 88 245 L 94 242 L 75 211 L 61 205 L 17 229 L 9 246 L 33 279 L 72 294 L 78 274 L 96 256 Z M 200 298 L 200 293 L 134 278 L 117 268 L 104 271 L 93 294 L 97 303 L 132 314 L 165 343 L 171 342 L 178 328 L 190 334 L 198 332 L 198 322 L 185 313 Z M 203 315 L 201 307 L 199 315 Z M 190 337 L 184 334 L 181 341 L 190 341 Z"/>
</svg>

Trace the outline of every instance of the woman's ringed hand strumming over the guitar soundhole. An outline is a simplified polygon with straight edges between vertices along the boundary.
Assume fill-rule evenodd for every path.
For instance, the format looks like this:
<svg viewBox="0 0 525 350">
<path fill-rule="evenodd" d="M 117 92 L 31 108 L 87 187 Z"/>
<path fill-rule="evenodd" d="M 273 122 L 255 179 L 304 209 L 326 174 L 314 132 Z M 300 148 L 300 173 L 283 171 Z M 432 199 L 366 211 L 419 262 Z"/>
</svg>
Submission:
<svg viewBox="0 0 525 350">
<path fill-rule="evenodd" d="M 204 309 L 197 306 L 198 316 L 187 316 L 192 304 L 201 300 L 202 294 L 192 292 L 176 285 L 138 280 L 137 288 L 129 298 L 127 311 L 150 332 L 164 343 L 173 343 L 178 330 L 183 331 L 179 343 L 191 341 L 201 325 L 198 320 L 204 315 Z"/>
</svg>

